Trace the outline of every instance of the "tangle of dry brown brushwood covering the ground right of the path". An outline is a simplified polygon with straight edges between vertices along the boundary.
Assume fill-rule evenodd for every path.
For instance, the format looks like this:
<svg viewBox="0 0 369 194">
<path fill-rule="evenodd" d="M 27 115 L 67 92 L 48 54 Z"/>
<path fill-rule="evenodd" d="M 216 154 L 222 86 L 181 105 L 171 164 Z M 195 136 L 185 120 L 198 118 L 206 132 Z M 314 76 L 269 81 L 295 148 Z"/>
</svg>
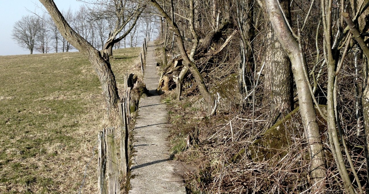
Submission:
<svg viewBox="0 0 369 194">
<path fill-rule="evenodd" d="M 265 129 L 268 113 L 263 108 L 257 109 L 254 130 L 263 133 L 252 135 L 252 112 L 231 105 L 229 110 L 208 117 L 203 111 L 205 107 L 198 103 L 198 96 L 187 96 L 180 102 L 168 99 L 170 96 L 167 102 L 173 123 L 172 152 L 177 160 L 197 167 L 183 177 L 191 193 L 303 193 L 310 189 L 308 147 L 298 111 Z M 325 136 L 323 119 L 320 126 Z M 188 137 L 197 137 L 197 141 L 188 145 Z M 350 146 L 359 176 L 365 179 L 362 149 L 355 144 Z M 335 193 L 341 186 L 337 184 L 337 167 L 328 147 L 325 157 L 326 192 Z"/>
</svg>

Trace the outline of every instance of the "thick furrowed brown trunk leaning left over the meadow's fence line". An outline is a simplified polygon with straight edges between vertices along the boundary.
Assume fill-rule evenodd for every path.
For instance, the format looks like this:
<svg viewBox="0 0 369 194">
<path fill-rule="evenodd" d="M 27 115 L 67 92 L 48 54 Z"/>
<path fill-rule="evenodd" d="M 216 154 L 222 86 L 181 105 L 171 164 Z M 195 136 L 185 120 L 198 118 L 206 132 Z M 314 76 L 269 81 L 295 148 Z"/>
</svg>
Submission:
<svg viewBox="0 0 369 194">
<path fill-rule="evenodd" d="M 113 71 L 110 63 L 104 60 L 99 50 L 96 50 L 87 40 L 76 33 L 65 20 L 63 15 L 56 7 L 53 0 L 39 0 L 49 12 L 56 27 L 58 27 L 61 35 L 68 40 L 76 49 L 82 52 L 92 64 L 94 70 L 99 77 L 101 88 L 103 89 L 107 104 L 107 112 L 110 113 L 111 108 L 116 108 L 119 101 L 118 88 L 115 82 Z"/>
</svg>

